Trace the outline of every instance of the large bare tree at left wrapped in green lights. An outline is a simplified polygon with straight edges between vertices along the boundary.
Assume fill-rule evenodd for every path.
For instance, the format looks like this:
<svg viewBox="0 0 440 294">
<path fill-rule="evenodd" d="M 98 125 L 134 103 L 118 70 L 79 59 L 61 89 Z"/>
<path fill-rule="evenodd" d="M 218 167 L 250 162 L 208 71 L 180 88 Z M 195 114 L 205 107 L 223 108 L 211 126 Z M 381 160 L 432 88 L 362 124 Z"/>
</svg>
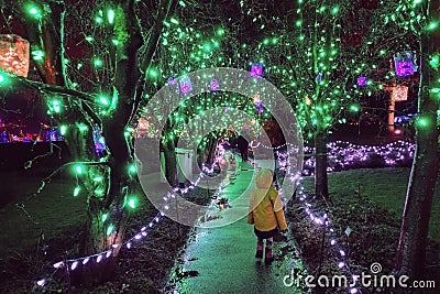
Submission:
<svg viewBox="0 0 440 294">
<path fill-rule="evenodd" d="M 56 99 L 59 107 L 52 116 L 58 126 L 67 126 L 64 135 L 74 161 L 68 166 L 76 166 L 79 179 L 75 193 L 85 190 L 88 197 L 81 254 L 111 251 L 112 258 L 84 268 L 88 283 L 111 274 L 122 244 L 135 183 L 132 137 L 124 133 L 145 95 L 145 73 L 174 3 L 1 3 L 7 22 L 23 24 L 37 73 L 37 78 L 11 77 L 12 86 L 32 88 L 48 104 Z M 100 152 L 94 135 L 101 137 Z"/>
</svg>

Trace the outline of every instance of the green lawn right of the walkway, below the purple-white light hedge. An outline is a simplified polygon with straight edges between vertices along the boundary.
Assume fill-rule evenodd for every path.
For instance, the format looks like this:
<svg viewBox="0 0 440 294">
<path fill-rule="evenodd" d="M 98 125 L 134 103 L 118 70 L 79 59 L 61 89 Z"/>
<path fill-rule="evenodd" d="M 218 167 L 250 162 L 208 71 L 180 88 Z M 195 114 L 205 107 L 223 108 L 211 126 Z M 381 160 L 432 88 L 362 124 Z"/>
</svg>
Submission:
<svg viewBox="0 0 440 294">
<path fill-rule="evenodd" d="M 330 197 L 361 197 L 382 206 L 402 220 L 410 168 L 363 168 L 329 174 Z M 314 177 L 305 177 L 307 192 L 314 190 Z M 440 242 L 440 179 L 437 179 L 429 237 Z"/>
</svg>

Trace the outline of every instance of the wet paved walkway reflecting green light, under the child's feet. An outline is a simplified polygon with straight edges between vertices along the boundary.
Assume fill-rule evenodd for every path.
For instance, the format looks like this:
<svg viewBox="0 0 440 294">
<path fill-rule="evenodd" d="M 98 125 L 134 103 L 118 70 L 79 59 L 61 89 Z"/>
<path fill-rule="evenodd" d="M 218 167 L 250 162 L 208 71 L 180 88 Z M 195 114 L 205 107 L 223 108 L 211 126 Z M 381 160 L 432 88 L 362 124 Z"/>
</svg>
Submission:
<svg viewBox="0 0 440 294">
<path fill-rule="evenodd" d="M 208 214 L 217 217 L 202 218 L 199 225 L 209 228 L 195 229 L 172 274 L 168 287 L 174 290 L 169 293 L 302 293 L 283 283 L 284 276 L 300 263 L 293 241 L 275 240 L 272 264 L 254 258 L 256 237 L 253 226 L 243 217 L 248 213 L 250 190 L 254 188 L 254 170 L 248 163 L 230 165 L 227 176 L 230 182 L 219 197 L 230 199 L 232 207 L 220 211 L 212 207 Z M 238 221 L 230 221 L 240 216 Z"/>
</svg>

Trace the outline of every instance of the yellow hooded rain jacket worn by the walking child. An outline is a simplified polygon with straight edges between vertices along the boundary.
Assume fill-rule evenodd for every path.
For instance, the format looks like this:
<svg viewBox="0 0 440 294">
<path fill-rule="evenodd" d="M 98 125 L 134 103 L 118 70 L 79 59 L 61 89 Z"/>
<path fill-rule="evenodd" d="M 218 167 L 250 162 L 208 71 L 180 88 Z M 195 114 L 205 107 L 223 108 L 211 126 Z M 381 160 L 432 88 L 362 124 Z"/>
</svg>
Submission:
<svg viewBox="0 0 440 294">
<path fill-rule="evenodd" d="M 276 227 L 280 230 L 287 229 L 282 199 L 272 182 L 271 170 L 264 168 L 256 174 L 256 189 L 251 194 L 248 224 L 255 224 L 258 231 L 271 231 Z"/>
</svg>

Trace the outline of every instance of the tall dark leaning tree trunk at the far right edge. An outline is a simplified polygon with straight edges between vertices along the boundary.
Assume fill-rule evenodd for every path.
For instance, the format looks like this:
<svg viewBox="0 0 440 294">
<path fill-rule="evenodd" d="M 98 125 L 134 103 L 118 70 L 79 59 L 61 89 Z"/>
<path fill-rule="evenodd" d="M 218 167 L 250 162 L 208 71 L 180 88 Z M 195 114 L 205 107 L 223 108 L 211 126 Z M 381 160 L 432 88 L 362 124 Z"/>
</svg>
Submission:
<svg viewBox="0 0 440 294">
<path fill-rule="evenodd" d="M 437 14 L 432 15 L 432 19 L 439 18 L 438 10 L 439 2 L 431 1 L 429 11 Z M 439 47 L 439 31 L 425 31 L 420 43 L 424 58 L 418 98 L 419 119 L 416 123 L 416 152 L 408 182 L 395 263 L 395 271 L 410 279 L 420 279 L 424 275 L 429 219 L 438 175 L 437 109 L 439 102 L 435 97 L 436 94 L 429 90 L 438 84 L 438 73 L 431 68 L 427 56 L 435 54 Z M 420 123 L 421 121 L 426 123 Z"/>
</svg>

